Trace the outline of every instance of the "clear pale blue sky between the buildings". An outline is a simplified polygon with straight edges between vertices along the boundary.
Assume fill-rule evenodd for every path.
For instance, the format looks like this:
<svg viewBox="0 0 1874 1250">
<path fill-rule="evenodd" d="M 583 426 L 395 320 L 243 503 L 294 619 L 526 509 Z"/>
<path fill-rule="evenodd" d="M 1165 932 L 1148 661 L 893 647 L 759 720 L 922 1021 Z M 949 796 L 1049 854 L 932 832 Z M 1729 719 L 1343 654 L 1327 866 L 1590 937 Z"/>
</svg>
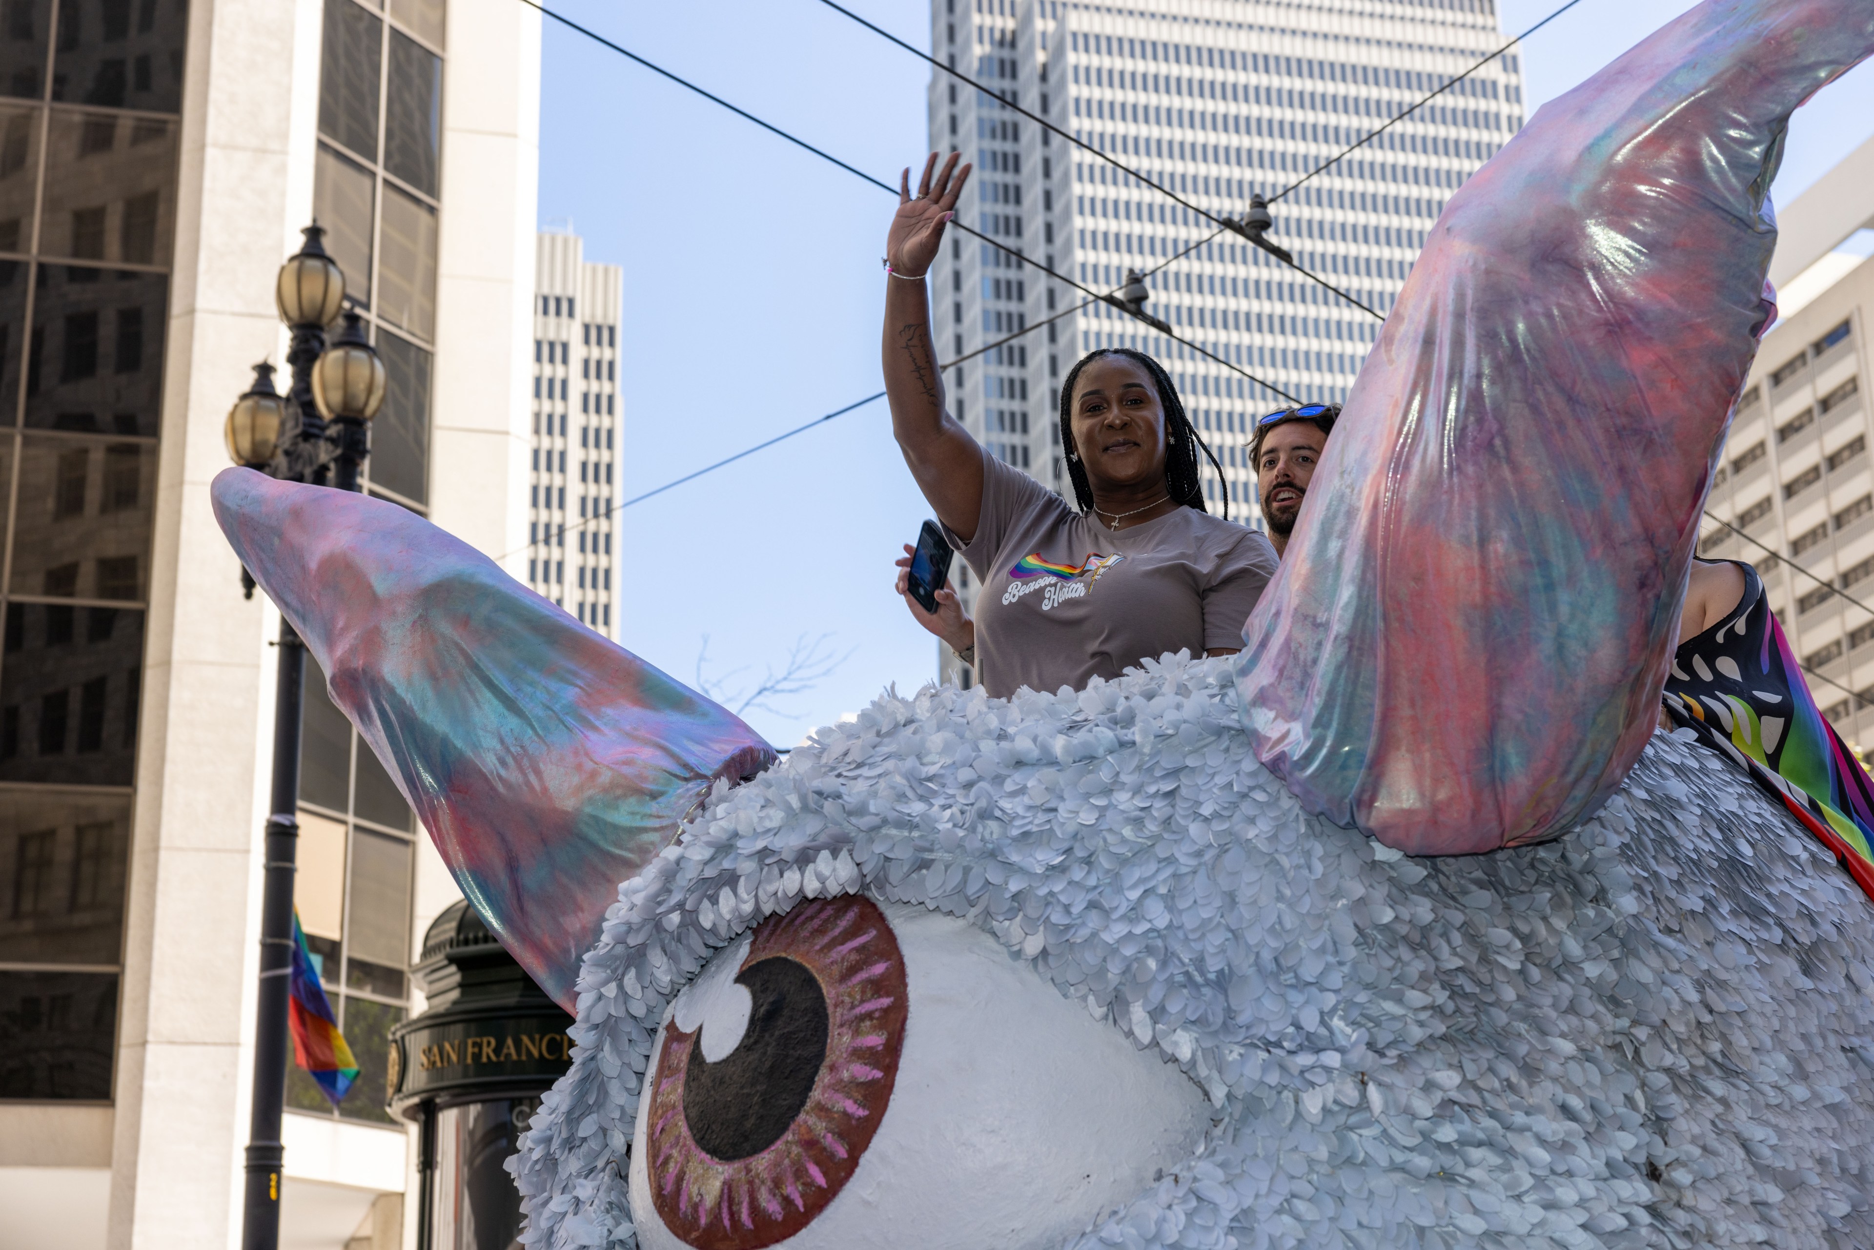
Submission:
<svg viewBox="0 0 1874 1250">
<path fill-rule="evenodd" d="M 879 178 L 924 152 L 928 67 L 811 0 L 549 2 Z M 845 4 L 928 45 L 928 2 Z M 1505 0 L 1503 28 L 1554 4 Z M 1685 7 L 1582 0 L 1524 47 L 1531 103 Z M 620 499 L 879 390 L 888 195 L 551 21 L 542 79 L 540 221 L 624 266 Z M 1797 114 L 1778 199 L 1868 133 L 1874 66 Z M 708 637 L 705 673 L 733 692 L 825 635 L 847 656 L 828 678 L 746 712 L 796 742 L 933 677 L 890 588 L 926 515 L 883 401 L 841 416 L 620 513 L 624 645 L 693 682 Z"/>
</svg>

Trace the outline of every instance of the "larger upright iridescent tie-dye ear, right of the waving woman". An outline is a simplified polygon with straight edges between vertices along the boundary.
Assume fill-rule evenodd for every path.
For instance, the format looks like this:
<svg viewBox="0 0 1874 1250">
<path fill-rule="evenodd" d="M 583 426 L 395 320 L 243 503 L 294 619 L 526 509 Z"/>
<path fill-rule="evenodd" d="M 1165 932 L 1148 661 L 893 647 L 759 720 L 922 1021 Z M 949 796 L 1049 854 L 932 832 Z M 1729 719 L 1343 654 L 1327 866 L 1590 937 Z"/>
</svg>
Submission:
<svg viewBox="0 0 1874 1250">
<path fill-rule="evenodd" d="M 1867 0 L 1711 0 L 1452 195 L 1237 662 L 1304 804 L 1458 855 L 1554 838 L 1627 776 L 1773 315 L 1790 112 L 1870 47 Z"/>
</svg>

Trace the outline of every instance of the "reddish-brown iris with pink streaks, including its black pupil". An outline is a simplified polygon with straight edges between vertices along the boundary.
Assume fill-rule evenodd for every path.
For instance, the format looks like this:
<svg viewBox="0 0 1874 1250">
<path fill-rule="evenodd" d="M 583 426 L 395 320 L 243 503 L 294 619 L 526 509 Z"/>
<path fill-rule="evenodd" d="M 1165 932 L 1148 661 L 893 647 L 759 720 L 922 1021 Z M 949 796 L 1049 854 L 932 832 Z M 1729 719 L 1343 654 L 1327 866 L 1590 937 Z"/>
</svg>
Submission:
<svg viewBox="0 0 1874 1250">
<path fill-rule="evenodd" d="M 697 1250 L 772 1246 L 826 1209 L 879 1130 L 905 1040 L 905 961 L 868 898 L 765 920 L 735 980 L 751 999 L 735 1051 L 710 1063 L 671 1021 L 647 1111 L 652 1201 Z"/>
</svg>

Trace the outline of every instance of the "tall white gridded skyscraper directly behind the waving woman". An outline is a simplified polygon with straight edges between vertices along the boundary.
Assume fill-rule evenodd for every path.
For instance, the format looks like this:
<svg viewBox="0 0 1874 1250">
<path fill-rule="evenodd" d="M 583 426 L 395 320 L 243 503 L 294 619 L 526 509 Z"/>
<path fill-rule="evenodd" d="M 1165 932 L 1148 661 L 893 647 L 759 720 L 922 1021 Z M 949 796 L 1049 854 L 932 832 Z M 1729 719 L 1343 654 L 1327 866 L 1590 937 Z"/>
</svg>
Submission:
<svg viewBox="0 0 1874 1250">
<path fill-rule="evenodd" d="M 1211 510 L 1259 527 L 1250 420 L 1286 401 L 1237 369 L 1302 401 L 1340 401 L 1379 322 L 1102 154 L 1216 217 L 1241 216 L 1252 193 L 1272 199 L 1495 52 L 1490 4 L 933 0 L 931 45 L 986 88 L 933 71 L 930 142 L 974 163 L 959 216 L 1001 244 L 952 231 L 931 275 L 939 356 L 1048 322 L 946 369 L 956 414 L 991 454 L 1066 491 L 1061 380 L 1093 349 L 1145 350 L 1224 467 L 1224 482 L 1207 472 Z M 1276 202 L 1269 238 L 1385 313 L 1445 201 L 1520 126 L 1509 52 Z M 1031 260 L 1102 294 L 1162 266 L 1147 311 L 1235 369 L 1085 304 Z M 963 570 L 965 600 L 971 583 Z M 946 678 L 969 680 L 944 663 Z"/>
</svg>

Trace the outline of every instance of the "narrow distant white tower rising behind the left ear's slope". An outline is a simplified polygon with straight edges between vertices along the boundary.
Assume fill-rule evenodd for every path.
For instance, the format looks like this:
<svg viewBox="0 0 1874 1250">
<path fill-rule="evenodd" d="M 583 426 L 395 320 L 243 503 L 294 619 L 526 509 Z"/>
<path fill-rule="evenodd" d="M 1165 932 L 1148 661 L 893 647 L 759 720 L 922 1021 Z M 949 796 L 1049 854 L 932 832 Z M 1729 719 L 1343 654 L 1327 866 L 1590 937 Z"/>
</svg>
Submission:
<svg viewBox="0 0 1874 1250">
<path fill-rule="evenodd" d="M 542 234 L 534 298 L 534 446 L 527 581 L 617 639 L 613 504 L 624 270 L 590 264 L 577 234 Z"/>
</svg>

